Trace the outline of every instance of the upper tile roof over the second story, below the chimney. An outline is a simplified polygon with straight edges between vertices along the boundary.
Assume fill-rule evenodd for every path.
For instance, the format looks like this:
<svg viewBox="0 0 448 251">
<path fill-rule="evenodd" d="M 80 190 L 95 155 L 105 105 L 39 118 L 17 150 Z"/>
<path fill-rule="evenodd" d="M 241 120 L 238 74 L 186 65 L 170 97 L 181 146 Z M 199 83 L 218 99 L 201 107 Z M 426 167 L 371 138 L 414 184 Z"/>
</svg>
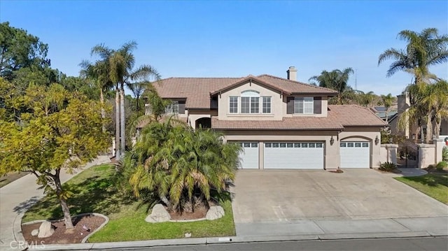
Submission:
<svg viewBox="0 0 448 251">
<path fill-rule="evenodd" d="M 327 96 L 337 94 L 332 89 L 269 75 L 256 77 L 249 75 L 244 78 L 166 78 L 154 86 L 162 98 L 186 99 L 186 108 L 210 109 L 210 96 L 212 93 L 225 91 L 245 83 L 246 80 L 254 80 L 286 94 L 322 94 Z"/>
</svg>

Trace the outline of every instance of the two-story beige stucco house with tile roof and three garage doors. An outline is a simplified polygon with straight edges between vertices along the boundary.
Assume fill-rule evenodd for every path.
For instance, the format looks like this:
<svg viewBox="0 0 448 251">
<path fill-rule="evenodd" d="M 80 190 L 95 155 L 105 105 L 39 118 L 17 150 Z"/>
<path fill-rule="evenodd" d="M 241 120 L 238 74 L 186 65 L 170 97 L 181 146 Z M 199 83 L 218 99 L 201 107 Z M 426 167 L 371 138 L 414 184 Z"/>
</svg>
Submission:
<svg viewBox="0 0 448 251">
<path fill-rule="evenodd" d="M 155 85 L 191 127 L 211 127 L 242 145 L 240 168 L 372 168 L 379 166 L 386 124 L 360 106 L 330 106 L 337 92 L 287 78 L 167 78 Z"/>
</svg>

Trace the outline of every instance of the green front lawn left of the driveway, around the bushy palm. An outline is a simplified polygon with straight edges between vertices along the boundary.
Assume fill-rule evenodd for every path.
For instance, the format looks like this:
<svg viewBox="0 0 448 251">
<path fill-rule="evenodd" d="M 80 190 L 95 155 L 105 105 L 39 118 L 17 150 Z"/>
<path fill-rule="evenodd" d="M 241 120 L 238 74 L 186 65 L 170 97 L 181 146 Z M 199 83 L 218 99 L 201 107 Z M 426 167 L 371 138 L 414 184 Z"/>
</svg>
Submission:
<svg viewBox="0 0 448 251">
<path fill-rule="evenodd" d="M 71 215 L 79 213 L 102 213 L 109 217 L 109 223 L 89 238 L 89 242 L 142 241 L 167 238 L 192 238 L 211 236 L 235 236 L 232 204 L 222 203 L 225 216 L 218 220 L 200 222 L 148 223 L 148 206 L 134 201 L 129 196 L 119 195 L 113 189 L 111 165 L 93 166 L 67 182 L 74 192 L 67 201 Z M 56 220 L 63 217 L 55 196 L 45 196 L 32 206 L 22 222 L 31 220 Z"/>
</svg>

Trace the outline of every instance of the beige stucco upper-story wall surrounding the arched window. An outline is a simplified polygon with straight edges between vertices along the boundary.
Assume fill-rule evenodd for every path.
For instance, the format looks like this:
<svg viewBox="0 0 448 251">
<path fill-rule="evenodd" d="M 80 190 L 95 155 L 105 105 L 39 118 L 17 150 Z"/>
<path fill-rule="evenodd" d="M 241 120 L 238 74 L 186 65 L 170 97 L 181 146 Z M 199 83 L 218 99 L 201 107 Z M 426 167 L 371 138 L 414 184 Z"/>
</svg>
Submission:
<svg viewBox="0 0 448 251">
<path fill-rule="evenodd" d="M 230 114 L 229 113 L 229 100 L 230 96 L 241 96 L 241 92 L 253 90 L 259 92 L 260 96 L 271 96 L 271 113 L 269 114 Z M 238 109 L 241 109 L 241 100 L 239 101 Z M 260 99 L 260 102 L 262 100 Z M 328 108 L 328 97 L 322 97 L 322 113 L 321 114 L 311 114 L 311 115 L 292 115 L 286 114 L 286 95 L 282 95 L 281 92 L 257 85 L 256 83 L 246 83 L 230 89 L 226 92 L 218 94 L 218 119 L 219 120 L 281 120 L 283 117 L 292 116 L 314 116 L 314 117 L 326 117 Z M 261 107 L 261 106 L 260 106 Z M 260 110 L 261 112 L 261 110 Z"/>
</svg>

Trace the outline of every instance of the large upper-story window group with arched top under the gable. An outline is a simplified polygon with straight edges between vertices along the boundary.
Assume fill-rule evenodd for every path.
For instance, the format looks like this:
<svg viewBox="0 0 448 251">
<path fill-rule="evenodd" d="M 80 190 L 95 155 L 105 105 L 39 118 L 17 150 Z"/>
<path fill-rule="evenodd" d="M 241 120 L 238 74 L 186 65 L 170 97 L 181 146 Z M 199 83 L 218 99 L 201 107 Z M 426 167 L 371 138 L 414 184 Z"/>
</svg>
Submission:
<svg viewBox="0 0 448 251">
<path fill-rule="evenodd" d="M 271 113 L 271 100 L 271 96 L 260 97 L 259 92 L 244 91 L 241 96 L 229 97 L 229 113 Z"/>
</svg>

